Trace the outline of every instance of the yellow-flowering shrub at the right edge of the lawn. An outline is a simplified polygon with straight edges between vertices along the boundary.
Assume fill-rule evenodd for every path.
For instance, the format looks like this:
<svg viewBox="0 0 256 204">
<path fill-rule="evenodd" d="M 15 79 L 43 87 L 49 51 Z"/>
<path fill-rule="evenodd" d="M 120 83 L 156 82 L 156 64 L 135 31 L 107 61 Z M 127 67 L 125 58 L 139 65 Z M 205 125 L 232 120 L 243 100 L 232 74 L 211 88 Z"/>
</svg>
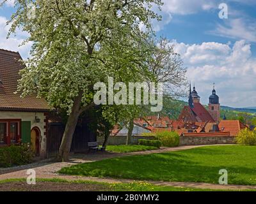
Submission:
<svg viewBox="0 0 256 204">
<path fill-rule="evenodd" d="M 236 136 L 236 143 L 241 145 L 256 145 L 256 129 L 242 129 Z"/>
</svg>

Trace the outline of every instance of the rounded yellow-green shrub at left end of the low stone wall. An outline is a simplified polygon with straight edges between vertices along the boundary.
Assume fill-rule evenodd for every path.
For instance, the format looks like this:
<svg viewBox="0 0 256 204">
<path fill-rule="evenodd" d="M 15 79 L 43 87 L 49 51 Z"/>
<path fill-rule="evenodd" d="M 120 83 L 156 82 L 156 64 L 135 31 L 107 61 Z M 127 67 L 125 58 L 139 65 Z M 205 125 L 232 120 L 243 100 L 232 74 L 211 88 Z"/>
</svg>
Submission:
<svg viewBox="0 0 256 204">
<path fill-rule="evenodd" d="M 179 134 L 175 131 L 161 131 L 156 133 L 156 138 L 162 142 L 165 147 L 177 147 L 180 143 Z"/>
</svg>

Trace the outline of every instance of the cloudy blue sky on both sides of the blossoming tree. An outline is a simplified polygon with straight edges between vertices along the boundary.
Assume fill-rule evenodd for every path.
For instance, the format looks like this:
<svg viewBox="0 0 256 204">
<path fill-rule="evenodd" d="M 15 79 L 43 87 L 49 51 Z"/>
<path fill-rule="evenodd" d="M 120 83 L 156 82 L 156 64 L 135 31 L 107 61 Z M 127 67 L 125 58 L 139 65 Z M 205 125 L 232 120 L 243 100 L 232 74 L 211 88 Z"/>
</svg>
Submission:
<svg viewBox="0 0 256 204">
<path fill-rule="evenodd" d="M 157 12 L 163 20 L 153 22 L 156 34 L 173 42 L 202 103 L 208 103 L 215 82 L 221 105 L 256 106 L 256 0 L 162 1 L 162 11 Z M 227 4 L 228 19 L 219 18 L 220 3 Z M 5 39 L 5 22 L 12 12 L 12 0 L 0 8 L 0 48 L 26 58 L 31 43 L 17 46 L 26 33 Z"/>
</svg>

